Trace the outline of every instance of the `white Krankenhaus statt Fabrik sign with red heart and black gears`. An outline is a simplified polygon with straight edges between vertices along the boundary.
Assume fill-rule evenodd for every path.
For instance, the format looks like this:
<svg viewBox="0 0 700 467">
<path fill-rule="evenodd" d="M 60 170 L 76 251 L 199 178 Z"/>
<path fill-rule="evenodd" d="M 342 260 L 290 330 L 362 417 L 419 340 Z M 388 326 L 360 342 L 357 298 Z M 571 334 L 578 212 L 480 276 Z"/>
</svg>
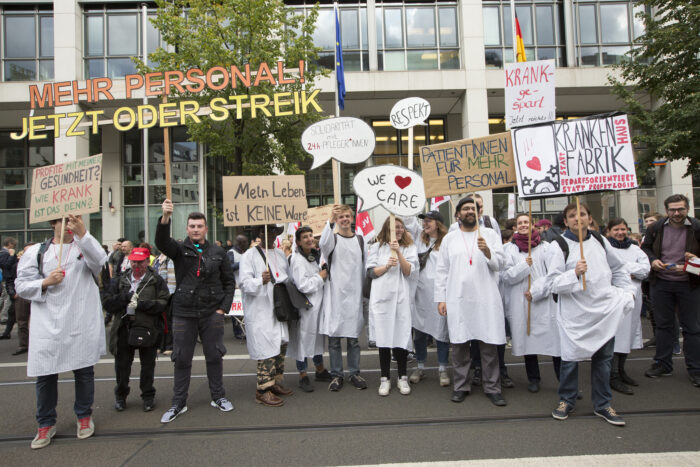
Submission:
<svg viewBox="0 0 700 467">
<path fill-rule="evenodd" d="M 521 198 L 637 187 L 627 115 L 517 128 L 513 147 Z"/>
</svg>

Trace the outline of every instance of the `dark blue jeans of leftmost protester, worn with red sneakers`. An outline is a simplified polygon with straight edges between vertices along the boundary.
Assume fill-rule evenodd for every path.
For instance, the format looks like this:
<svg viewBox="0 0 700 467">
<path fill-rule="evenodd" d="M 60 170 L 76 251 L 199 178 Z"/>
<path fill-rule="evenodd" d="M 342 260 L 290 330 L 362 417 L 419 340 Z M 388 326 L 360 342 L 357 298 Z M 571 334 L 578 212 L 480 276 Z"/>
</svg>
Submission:
<svg viewBox="0 0 700 467">
<path fill-rule="evenodd" d="M 89 366 L 73 370 L 75 378 L 75 404 L 73 411 L 78 418 L 92 415 L 95 399 L 95 372 Z M 39 376 L 36 379 L 36 421 L 39 428 L 56 424 L 58 404 L 58 375 Z"/>
</svg>

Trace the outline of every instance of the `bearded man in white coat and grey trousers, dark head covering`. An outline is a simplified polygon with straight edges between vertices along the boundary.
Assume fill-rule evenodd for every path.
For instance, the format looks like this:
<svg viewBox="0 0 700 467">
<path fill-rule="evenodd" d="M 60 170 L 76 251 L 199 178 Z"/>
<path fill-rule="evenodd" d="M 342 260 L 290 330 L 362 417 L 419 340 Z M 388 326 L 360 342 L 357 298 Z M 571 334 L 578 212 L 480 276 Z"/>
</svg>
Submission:
<svg viewBox="0 0 700 467">
<path fill-rule="evenodd" d="M 498 275 L 503 266 L 501 236 L 492 229 L 479 229 L 477 207 L 471 197 L 457 204 L 459 230 L 442 240 L 435 268 L 435 301 L 447 316 L 454 367 L 453 402 L 470 393 L 469 341 L 479 341 L 483 388 L 494 405 L 504 406 L 501 394 L 498 351 L 505 344 L 505 316 L 498 292 Z"/>
</svg>

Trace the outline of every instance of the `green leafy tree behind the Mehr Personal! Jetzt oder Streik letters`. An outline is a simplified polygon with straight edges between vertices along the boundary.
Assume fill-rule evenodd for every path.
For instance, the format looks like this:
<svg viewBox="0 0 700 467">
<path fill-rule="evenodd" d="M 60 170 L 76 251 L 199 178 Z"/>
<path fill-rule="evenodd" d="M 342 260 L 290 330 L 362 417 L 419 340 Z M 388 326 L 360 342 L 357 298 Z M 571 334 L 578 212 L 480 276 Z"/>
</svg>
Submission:
<svg viewBox="0 0 700 467">
<path fill-rule="evenodd" d="M 152 20 L 169 46 L 158 48 L 149 56 L 154 66 L 137 60 L 139 72 L 165 72 L 191 68 L 206 70 L 221 66 L 246 64 L 254 72 L 266 62 L 270 68 L 282 60 L 285 68 L 299 68 L 304 60 L 304 83 L 261 82 L 255 87 L 236 86 L 222 90 L 208 87 L 199 93 L 170 90 L 170 101 L 195 100 L 208 106 L 219 97 L 265 94 L 273 100 L 275 93 L 314 89 L 314 81 L 325 72 L 316 65 L 318 48 L 312 34 L 318 11 L 306 17 L 294 15 L 281 0 L 157 0 L 158 15 Z M 248 101 L 249 102 L 249 101 Z M 227 157 L 233 162 L 231 175 L 265 175 L 275 171 L 299 173 L 298 163 L 309 157 L 300 143 L 308 125 L 321 119 L 317 112 L 289 116 L 265 116 L 237 119 L 230 112 L 227 119 L 214 121 L 201 118 L 199 123 L 188 119 L 187 130 L 193 141 L 207 145 L 210 156 Z"/>
</svg>

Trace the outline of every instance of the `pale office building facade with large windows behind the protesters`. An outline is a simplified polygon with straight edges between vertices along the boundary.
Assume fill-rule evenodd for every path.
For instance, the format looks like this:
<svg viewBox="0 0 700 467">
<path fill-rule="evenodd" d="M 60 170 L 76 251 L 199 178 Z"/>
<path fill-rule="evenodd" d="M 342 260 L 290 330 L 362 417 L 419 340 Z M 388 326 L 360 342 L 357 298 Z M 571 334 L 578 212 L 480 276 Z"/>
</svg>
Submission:
<svg viewBox="0 0 700 467">
<path fill-rule="evenodd" d="M 315 2 L 288 0 L 290 14 L 308 14 Z M 333 4 L 320 2 L 314 42 L 319 61 L 333 68 Z M 528 60 L 554 59 L 557 118 L 571 119 L 618 110 L 610 94 L 610 65 L 634 47 L 643 25 L 639 6 L 625 0 L 517 0 Z M 367 164 L 406 165 L 408 133 L 394 129 L 389 111 L 399 99 L 419 96 L 431 104 L 428 125 L 416 127 L 413 151 L 425 144 L 504 131 L 502 67 L 513 59 L 510 3 L 507 0 L 339 2 L 347 95 L 343 116 L 365 120 L 375 131 L 376 148 Z M 48 225 L 29 224 L 29 192 L 34 167 L 103 154 L 102 207 L 90 215 L 90 230 L 103 243 L 120 236 L 153 243 L 154 226 L 165 196 L 163 132 L 119 132 L 103 125 L 96 134 L 37 141 L 14 141 L 21 119 L 33 115 L 28 85 L 46 81 L 84 81 L 108 76 L 115 100 L 61 107 L 61 113 L 136 107 L 143 95 L 126 99 L 123 78 L 134 73 L 132 56 L 143 57 L 161 45 L 148 21 L 150 3 L 89 0 L 34 2 L 0 0 L 0 235 L 20 244 L 48 235 Z M 83 83 L 84 84 L 84 83 Z M 321 79 L 321 103 L 334 113 L 333 76 Z M 152 99 L 154 101 L 154 99 Z M 151 102 L 153 103 L 153 102 Z M 37 115 L 53 113 L 51 109 Z M 206 148 L 188 141 L 184 128 L 170 131 L 174 235 L 184 236 L 187 213 L 206 212 L 211 239 L 232 238 L 216 213 L 222 208 L 221 176 L 225 160 L 206 157 Z M 642 150 L 643 148 L 639 148 Z M 309 162 L 310 165 L 310 162 Z M 354 206 L 353 176 L 365 164 L 343 166 L 341 195 Z M 306 168 L 306 167 L 305 167 Z M 633 230 L 650 211 L 663 212 L 663 199 L 683 193 L 700 216 L 700 180 L 684 178 L 685 163 L 669 162 L 651 170 L 642 187 L 629 192 L 582 196 L 601 223 L 624 217 Z M 330 164 L 307 171 L 310 206 L 333 200 Z M 696 188 L 694 188 L 694 186 Z M 515 188 L 482 193 L 486 211 L 502 223 L 508 195 Z M 533 202 L 533 216 L 551 218 L 566 199 Z M 445 214 L 448 214 L 447 212 Z M 375 224 L 380 213 L 373 213 Z"/>
</svg>

